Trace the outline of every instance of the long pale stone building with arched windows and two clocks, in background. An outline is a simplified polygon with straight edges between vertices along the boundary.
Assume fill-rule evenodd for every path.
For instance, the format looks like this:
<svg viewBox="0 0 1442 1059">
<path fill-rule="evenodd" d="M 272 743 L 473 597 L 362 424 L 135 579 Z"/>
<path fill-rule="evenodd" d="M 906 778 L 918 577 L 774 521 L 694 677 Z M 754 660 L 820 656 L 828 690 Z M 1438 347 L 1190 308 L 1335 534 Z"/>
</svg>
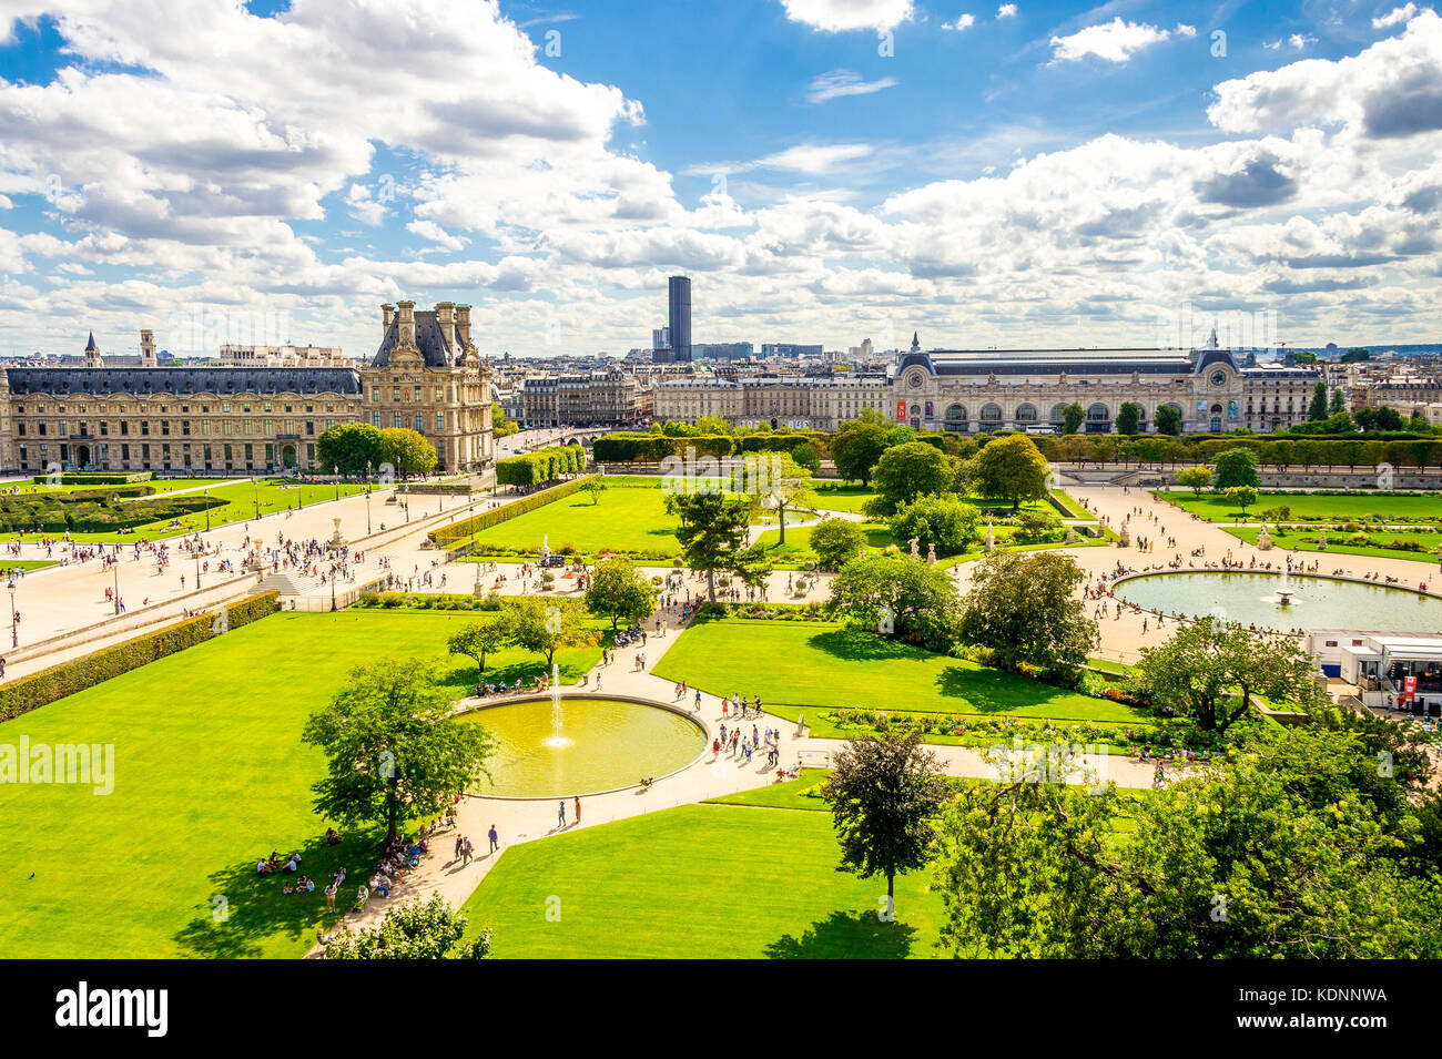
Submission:
<svg viewBox="0 0 1442 1059">
<path fill-rule="evenodd" d="M 656 418 L 720 415 L 735 425 L 836 429 L 862 408 L 929 431 L 1032 429 L 1060 432 L 1067 405 L 1086 412 L 1082 429 L 1110 434 L 1122 405 L 1141 406 L 1141 429 L 1172 405 L 1184 434 L 1247 428 L 1270 432 L 1306 421 L 1315 366 L 1291 353 L 1275 363 L 1221 349 L 1213 333 L 1201 349 L 932 350 L 913 336 L 884 377 L 760 376 L 744 380 L 663 382 Z"/>
</svg>

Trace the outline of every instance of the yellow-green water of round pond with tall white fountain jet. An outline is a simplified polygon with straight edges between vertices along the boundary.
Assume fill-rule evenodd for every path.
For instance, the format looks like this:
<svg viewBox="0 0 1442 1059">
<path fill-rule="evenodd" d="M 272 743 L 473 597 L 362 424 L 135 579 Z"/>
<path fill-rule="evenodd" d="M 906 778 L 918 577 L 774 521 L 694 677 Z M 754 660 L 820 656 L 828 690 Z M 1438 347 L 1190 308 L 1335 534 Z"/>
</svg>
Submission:
<svg viewBox="0 0 1442 1059">
<path fill-rule="evenodd" d="M 694 719 L 642 699 L 565 694 L 561 739 L 549 697 L 508 699 L 456 718 L 485 725 L 496 736 L 490 781 L 472 794 L 503 798 L 564 798 L 600 794 L 660 778 L 696 761 L 707 732 Z"/>
</svg>

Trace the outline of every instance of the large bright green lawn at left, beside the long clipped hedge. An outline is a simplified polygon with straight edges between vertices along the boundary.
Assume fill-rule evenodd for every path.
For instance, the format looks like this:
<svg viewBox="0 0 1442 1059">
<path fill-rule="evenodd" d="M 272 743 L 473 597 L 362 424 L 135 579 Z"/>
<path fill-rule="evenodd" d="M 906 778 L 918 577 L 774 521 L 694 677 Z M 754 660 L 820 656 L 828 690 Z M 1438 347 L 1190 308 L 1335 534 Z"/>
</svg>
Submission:
<svg viewBox="0 0 1442 1059">
<path fill-rule="evenodd" d="M 434 656 L 457 696 L 474 663 L 446 657 L 467 615 L 346 611 L 277 614 L 0 725 L 0 742 L 110 743 L 115 785 L 0 785 L 4 955 L 23 958 L 298 957 L 324 915 L 320 889 L 283 896 L 255 862 L 301 850 L 320 880 L 373 863 L 373 844 L 322 841 L 310 807 L 323 772 L 300 743 L 306 718 L 349 669 L 386 656 Z M 558 656 L 562 680 L 598 650 Z M 487 674 L 535 676 L 509 650 Z M 33 873 L 33 877 L 32 877 Z M 213 911 L 222 898 L 225 922 Z"/>
</svg>

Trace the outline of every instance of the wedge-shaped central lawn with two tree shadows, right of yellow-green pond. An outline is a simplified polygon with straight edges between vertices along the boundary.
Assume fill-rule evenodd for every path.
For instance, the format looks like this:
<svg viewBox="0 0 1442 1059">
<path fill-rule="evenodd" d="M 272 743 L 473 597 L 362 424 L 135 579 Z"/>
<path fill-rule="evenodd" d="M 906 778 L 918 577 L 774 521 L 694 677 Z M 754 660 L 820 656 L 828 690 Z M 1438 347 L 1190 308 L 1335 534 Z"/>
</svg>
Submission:
<svg viewBox="0 0 1442 1059">
<path fill-rule="evenodd" d="M 721 618 L 692 624 L 662 656 L 656 676 L 711 694 L 760 694 L 796 719 L 822 707 L 1141 722 L 1129 706 L 1093 699 L 963 658 L 820 621 Z"/>
</svg>

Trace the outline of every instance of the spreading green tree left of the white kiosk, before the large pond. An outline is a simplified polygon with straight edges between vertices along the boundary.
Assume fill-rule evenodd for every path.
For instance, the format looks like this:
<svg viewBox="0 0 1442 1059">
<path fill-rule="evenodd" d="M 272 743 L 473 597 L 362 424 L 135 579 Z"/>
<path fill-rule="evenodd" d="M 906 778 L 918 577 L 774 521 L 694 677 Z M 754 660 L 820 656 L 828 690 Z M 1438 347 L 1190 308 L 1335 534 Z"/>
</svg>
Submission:
<svg viewBox="0 0 1442 1059">
<path fill-rule="evenodd" d="M 1315 669 L 1291 640 L 1207 615 L 1178 628 L 1165 644 L 1144 647 L 1132 684 L 1155 706 L 1171 706 L 1208 732 L 1226 732 L 1250 709 L 1253 694 L 1304 712 L 1319 707 Z"/>
</svg>

